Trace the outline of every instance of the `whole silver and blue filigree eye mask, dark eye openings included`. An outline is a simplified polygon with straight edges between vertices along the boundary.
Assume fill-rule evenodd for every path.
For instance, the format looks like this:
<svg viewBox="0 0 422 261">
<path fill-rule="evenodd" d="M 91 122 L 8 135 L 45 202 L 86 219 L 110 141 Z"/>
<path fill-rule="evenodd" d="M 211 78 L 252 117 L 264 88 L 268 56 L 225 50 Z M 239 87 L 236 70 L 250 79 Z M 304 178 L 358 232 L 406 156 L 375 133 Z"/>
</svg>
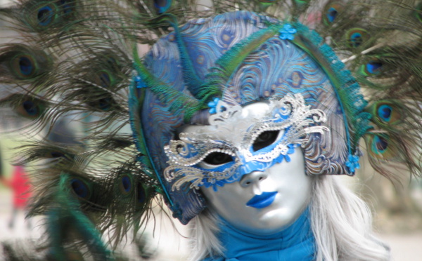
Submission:
<svg viewBox="0 0 422 261">
<path fill-rule="evenodd" d="M 326 121 L 324 112 L 305 105 L 300 94 L 260 103 L 263 113 L 219 101 L 210 126 L 188 127 L 193 133 L 180 133 L 180 140 L 171 140 L 165 147 L 169 157 L 165 178 L 177 180 L 172 188 L 191 182 L 191 188 L 213 186 L 217 190 L 216 185 L 235 182 L 283 159 L 290 161 L 288 154 L 307 141 L 307 134 L 328 131 L 325 126 L 314 126 Z M 227 136 L 231 142 L 224 140 Z"/>
</svg>

